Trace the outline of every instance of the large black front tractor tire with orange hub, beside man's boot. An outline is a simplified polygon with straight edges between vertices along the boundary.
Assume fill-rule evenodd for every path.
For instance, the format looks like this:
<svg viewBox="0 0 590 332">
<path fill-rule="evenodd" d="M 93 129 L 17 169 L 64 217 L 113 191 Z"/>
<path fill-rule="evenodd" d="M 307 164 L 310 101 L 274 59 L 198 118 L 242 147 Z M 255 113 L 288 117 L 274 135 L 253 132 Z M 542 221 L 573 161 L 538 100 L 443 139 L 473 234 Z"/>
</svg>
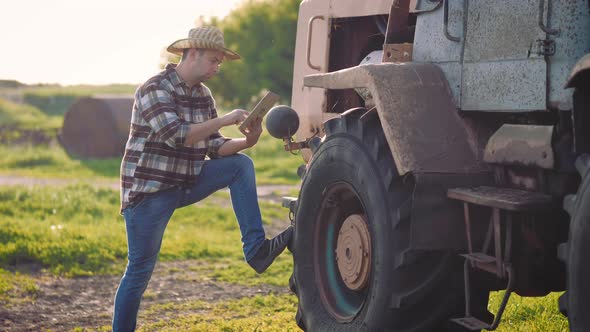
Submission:
<svg viewBox="0 0 590 332">
<path fill-rule="evenodd" d="M 325 132 L 295 217 L 298 325 L 463 331 L 449 322 L 464 316 L 463 263 L 449 252 L 410 251 L 412 177 L 399 176 L 377 113 L 347 111 Z"/>
</svg>

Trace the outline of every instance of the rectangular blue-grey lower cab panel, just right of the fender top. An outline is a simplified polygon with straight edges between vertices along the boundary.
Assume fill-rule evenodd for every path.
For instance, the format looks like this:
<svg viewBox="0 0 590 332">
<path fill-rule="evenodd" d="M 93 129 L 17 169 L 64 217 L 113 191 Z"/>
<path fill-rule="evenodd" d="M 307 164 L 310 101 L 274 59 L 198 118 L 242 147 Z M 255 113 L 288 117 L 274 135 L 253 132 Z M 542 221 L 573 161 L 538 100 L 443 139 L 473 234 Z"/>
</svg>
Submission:
<svg viewBox="0 0 590 332">
<path fill-rule="evenodd" d="M 536 111 L 546 108 L 543 59 L 463 64 L 464 111 Z"/>
</svg>

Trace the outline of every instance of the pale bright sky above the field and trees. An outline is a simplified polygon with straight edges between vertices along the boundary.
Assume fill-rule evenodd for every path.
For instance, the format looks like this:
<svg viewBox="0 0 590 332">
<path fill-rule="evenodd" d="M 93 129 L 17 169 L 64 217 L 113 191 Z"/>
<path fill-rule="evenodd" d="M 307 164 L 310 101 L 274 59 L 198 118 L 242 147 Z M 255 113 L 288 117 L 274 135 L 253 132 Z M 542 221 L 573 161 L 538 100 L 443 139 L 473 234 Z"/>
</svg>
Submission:
<svg viewBox="0 0 590 332">
<path fill-rule="evenodd" d="M 138 84 L 200 16 L 243 0 L 2 0 L 0 80 Z"/>
</svg>

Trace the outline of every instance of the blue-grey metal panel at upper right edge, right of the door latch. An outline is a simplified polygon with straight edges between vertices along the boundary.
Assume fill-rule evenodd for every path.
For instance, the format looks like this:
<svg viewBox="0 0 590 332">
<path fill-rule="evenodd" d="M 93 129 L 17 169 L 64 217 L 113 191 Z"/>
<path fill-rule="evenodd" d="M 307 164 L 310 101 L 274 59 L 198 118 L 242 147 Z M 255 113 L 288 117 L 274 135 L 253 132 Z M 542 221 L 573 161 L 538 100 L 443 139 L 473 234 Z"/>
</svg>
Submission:
<svg viewBox="0 0 590 332">
<path fill-rule="evenodd" d="M 555 54 L 549 62 L 549 105 L 556 109 L 572 109 L 571 89 L 564 89 L 577 61 L 590 53 L 590 6 L 588 0 L 551 0 L 549 27 L 558 35 Z"/>
</svg>

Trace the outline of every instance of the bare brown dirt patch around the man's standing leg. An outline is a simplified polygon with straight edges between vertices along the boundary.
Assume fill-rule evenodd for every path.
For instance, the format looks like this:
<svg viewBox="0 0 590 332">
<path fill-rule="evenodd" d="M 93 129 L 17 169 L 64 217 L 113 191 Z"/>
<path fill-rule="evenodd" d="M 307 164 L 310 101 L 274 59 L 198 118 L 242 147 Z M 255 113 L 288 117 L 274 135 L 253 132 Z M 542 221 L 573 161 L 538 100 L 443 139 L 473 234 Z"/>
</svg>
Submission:
<svg viewBox="0 0 590 332">
<path fill-rule="evenodd" d="M 215 303 L 257 294 L 284 294 L 286 287 L 256 287 L 227 284 L 203 278 L 191 270 L 202 263 L 195 261 L 159 262 L 156 266 L 142 308 L 158 303 L 183 303 L 202 300 Z M 69 331 L 75 327 L 98 328 L 109 325 L 112 305 L 120 276 L 58 278 L 39 275 L 39 292 L 34 302 L 0 306 L 2 331 Z M 151 317 L 157 320 L 161 317 Z M 150 320 L 150 317 L 142 317 Z"/>
</svg>

